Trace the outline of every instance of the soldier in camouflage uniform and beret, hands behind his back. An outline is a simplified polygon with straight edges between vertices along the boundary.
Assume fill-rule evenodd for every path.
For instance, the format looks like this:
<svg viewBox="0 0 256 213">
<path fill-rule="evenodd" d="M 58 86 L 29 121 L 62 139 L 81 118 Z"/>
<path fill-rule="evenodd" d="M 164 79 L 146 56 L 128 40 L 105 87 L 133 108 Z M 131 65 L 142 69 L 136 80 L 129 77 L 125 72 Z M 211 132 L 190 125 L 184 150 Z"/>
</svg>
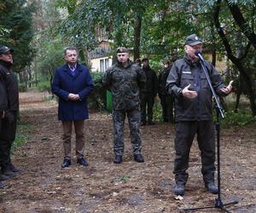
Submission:
<svg viewBox="0 0 256 213">
<path fill-rule="evenodd" d="M 127 115 L 135 161 L 143 163 L 140 137 L 139 91 L 146 81 L 142 69 L 129 60 L 128 49 L 117 50 L 118 62 L 109 67 L 103 77 L 103 86 L 113 95 L 113 163 L 120 164 L 124 153 L 124 124 Z"/>
</svg>

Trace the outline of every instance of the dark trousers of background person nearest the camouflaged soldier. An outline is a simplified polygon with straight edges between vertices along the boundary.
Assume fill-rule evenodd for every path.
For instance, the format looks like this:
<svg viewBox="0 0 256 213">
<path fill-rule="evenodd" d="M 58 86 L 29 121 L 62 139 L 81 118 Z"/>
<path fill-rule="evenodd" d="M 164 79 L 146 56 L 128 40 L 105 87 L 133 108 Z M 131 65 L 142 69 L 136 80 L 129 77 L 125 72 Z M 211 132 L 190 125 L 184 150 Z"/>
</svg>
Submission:
<svg viewBox="0 0 256 213">
<path fill-rule="evenodd" d="M 148 117 L 148 123 L 151 123 L 153 120 L 154 95 L 151 93 L 143 93 L 140 95 L 140 99 L 142 122 L 146 123 Z"/>
</svg>

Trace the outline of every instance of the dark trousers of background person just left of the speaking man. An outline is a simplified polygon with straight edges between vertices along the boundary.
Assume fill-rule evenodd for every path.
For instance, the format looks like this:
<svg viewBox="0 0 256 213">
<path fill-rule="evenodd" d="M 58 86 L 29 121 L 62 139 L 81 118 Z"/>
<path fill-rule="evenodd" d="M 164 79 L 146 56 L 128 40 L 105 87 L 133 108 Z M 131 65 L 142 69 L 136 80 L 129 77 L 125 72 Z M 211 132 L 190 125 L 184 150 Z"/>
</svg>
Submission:
<svg viewBox="0 0 256 213">
<path fill-rule="evenodd" d="M 173 123 L 173 97 L 172 95 L 159 95 L 160 104 L 162 106 L 163 111 L 163 120 L 164 122 Z"/>
</svg>

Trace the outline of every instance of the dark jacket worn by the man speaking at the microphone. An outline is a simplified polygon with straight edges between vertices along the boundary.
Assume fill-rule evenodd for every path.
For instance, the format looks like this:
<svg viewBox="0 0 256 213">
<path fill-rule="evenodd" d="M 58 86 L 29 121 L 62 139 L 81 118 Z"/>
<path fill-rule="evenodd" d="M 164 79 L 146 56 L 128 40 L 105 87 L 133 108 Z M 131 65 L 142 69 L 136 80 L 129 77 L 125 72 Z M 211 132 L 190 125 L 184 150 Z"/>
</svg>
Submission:
<svg viewBox="0 0 256 213">
<path fill-rule="evenodd" d="M 206 61 L 206 67 L 213 89 L 218 95 L 224 95 L 220 91 L 225 87 L 220 75 L 210 62 Z M 182 95 L 183 88 L 189 83 L 189 89 L 197 91 L 197 97 L 193 100 Z M 168 75 L 166 88 L 175 97 L 176 122 L 212 119 L 212 92 L 199 61 L 192 63 L 187 55 L 176 60 Z"/>
</svg>

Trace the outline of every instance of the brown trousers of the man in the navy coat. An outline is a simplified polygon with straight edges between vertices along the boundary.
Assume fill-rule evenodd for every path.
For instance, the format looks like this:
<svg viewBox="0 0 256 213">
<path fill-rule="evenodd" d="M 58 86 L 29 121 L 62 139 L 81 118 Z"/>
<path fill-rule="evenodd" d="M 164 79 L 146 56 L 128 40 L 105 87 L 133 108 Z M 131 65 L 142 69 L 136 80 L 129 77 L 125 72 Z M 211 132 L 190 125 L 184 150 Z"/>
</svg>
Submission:
<svg viewBox="0 0 256 213">
<path fill-rule="evenodd" d="M 71 136 L 72 127 L 74 126 L 76 134 L 76 156 L 77 158 L 83 158 L 84 150 L 84 120 L 81 121 L 62 121 L 63 128 L 63 147 L 64 158 L 71 159 Z"/>
</svg>

